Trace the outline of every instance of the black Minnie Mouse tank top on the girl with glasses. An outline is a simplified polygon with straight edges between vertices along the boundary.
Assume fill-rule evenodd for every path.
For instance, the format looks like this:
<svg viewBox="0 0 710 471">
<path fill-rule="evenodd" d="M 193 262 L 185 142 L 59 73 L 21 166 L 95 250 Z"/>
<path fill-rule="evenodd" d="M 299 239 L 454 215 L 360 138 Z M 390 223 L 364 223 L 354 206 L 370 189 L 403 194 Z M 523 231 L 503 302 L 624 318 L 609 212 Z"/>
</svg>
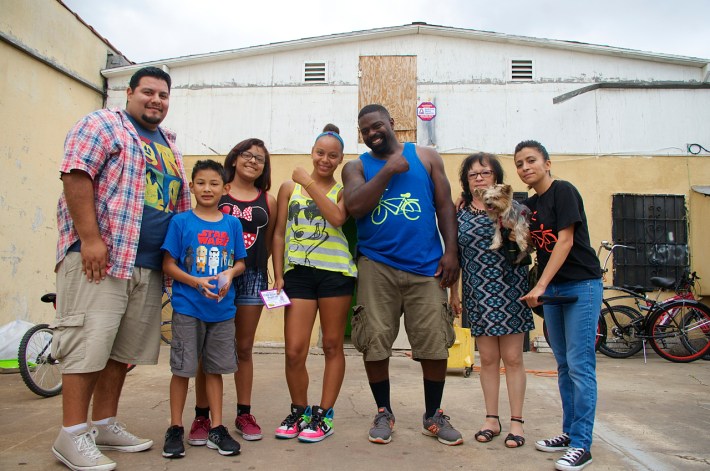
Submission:
<svg viewBox="0 0 710 471">
<path fill-rule="evenodd" d="M 269 259 L 266 228 L 271 216 L 266 192 L 259 191 L 259 196 L 252 201 L 240 201 L 226 194 L 219 200 L 219 210 L 239 218 L 242 223 L 247 268 L 258 268 L 266 273 Z"/>
</svg>

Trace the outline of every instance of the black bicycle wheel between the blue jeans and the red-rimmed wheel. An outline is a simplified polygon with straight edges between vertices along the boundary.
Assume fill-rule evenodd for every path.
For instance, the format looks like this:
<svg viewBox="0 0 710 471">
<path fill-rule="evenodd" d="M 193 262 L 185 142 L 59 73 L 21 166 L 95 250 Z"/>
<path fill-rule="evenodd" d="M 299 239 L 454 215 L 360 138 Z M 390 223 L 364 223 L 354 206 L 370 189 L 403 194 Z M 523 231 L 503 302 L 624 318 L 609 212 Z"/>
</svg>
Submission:
<svg viewBox="0 0 710 471">
<path fill-rule="evenodd" d="M 613 309 L 613 317 L 612 317 Z M 643 316 L 628 306 L 613 306 L 602 309 L 606 322 L 606 338 L 599 351 L 611 358 L 629 358 L 637 354 L 643 342 L 638 338 L 638 327 Z"/>
</svg>

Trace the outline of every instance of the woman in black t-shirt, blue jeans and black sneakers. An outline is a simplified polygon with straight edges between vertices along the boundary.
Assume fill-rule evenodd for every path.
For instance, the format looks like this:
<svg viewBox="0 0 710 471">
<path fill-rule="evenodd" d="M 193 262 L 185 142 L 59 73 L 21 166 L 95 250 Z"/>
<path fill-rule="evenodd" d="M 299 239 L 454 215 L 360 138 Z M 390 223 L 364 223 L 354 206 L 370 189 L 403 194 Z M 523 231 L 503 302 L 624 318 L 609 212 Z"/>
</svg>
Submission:
<svg viewBox="0 0 710 471">
<path fill-rule="evenodd" d="M 557 361 L 562 399 L 562 433 L 539 440 L 540 451 L 566 453 L 559 470 L 579 470 L 592 462 L 597 403 L 594 340 L 602 300 L 599 261 L 589 243 L 584 203 L 569 182 L 554 180 L 545 147 L 523 141 L 515 147 L 520 179 L 535 191 L 524 203 L 532 211 L 530 233 L 537 251 L 540 277 L 521 299 L 538 306 L 540 296 L 572 296 L 569 304 L 545 305 L 545 323 Z"/>
</svg>

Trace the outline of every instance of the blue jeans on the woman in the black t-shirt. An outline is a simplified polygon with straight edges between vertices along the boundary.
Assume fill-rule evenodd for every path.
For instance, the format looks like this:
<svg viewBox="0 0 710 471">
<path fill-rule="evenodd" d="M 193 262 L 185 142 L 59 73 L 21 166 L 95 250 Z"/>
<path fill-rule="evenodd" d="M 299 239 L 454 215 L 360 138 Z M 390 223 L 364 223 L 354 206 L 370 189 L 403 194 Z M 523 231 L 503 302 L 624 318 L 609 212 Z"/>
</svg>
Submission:
<svg viewBox="0 0 710 471">
<path fill-rule="evenodd" d="M 602 280 L 553 283 L 548 296 L 577 296 L 571 304 L 545 305 L 550 347 L 557 360 L 562 399 L 562 431 L 570 446 L 589 450 L 597 406 L 597 359 L 594 341 L 602 304 Z"/>
</svg>

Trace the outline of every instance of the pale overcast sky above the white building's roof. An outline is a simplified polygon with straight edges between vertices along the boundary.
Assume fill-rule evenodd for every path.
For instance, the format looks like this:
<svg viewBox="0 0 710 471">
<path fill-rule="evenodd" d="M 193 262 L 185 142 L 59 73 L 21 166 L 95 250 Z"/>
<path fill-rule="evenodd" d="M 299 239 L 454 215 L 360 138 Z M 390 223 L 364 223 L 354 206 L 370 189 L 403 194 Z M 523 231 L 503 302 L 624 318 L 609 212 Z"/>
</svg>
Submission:
<svg viewBox="0 0 710 471">
<path fill-rule="evenodd" d="M 710 58 L 710 0 L 63 0 L 134 62 L 413 21 Z"/>
</svg>

